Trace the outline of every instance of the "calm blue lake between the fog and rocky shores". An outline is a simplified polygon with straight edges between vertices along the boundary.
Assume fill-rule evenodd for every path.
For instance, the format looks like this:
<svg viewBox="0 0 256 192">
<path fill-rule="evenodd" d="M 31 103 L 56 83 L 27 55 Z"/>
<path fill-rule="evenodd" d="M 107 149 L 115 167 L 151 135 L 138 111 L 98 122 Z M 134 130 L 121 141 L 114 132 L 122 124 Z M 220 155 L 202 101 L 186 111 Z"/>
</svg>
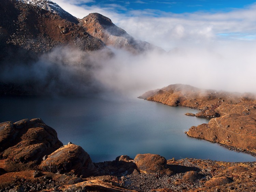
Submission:
<svg viewBox="0 0 256 192">
<path fill-rule="evenodd" d="M 197 110 L 138 98 L 0 98 L 0 122 L 41 118 L 63 144 L 80 145 L 93 162 L 126 154 L 160 154 L 166 159 L 256 161 L 218 144 L 188 137 L 191 126 L 207 119 L 185 116 Z"/>
</svg>

